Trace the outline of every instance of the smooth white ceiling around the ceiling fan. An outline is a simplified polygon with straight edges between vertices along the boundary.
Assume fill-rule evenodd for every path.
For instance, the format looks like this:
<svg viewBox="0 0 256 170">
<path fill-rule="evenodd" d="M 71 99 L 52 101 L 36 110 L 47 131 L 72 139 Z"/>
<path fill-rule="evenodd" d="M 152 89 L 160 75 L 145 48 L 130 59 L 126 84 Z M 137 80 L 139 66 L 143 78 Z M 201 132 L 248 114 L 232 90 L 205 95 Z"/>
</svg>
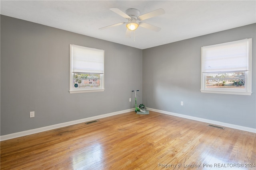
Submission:
<svg viewBox="0 0 256 170">
<path fill-rule="evenodd" d="M 1 0 L 0 3 L 2 15 L 138 49 L 146 49 L 256 23 L 256 0 Z M 125 36 L 125 24 L 99 30 L 101 27 L 127 21 L 109 8 L 119 8 L 123 12 L 128 8 L 136 8 L 140 10 L 140 14 L 163 8 L 166 13 L 144 20 L 146 23 L 161 27 L 161 31 L 154 32 L 139 27 L 135 31 L 134 41 L 133 37 L 127 38 Z"/>
</svg>

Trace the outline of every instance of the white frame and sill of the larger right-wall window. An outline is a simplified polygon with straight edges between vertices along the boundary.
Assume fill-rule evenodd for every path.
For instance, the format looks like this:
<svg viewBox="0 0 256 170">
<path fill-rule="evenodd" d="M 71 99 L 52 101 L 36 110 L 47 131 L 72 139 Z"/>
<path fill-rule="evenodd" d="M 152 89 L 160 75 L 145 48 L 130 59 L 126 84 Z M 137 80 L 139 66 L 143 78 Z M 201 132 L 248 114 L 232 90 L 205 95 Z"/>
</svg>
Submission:
<svg viewBox="0 0 256 170">
<path fill-rule="evenodd" d="M 234 41 L 233 41 L 234 42 Z M 231 42 L 230 42 L 231 43 Z M 206 75 L 203 72 L 203 47 L 201 48 L 201 89 L 202 93 L 216 93 L 216 94 L 235 94 L 235 95 L 248 95 L 252 94 L 252 39 L 247 39 L 247 50 L 248 50 L 248 70 L 245 72 L 245 84 L 244 89 L 235 88 L 206 88 Z M 227 71 L 229 72 L 229 71 Z M 221 73 L 221 72 L 215 72 Z"/>
</svg>

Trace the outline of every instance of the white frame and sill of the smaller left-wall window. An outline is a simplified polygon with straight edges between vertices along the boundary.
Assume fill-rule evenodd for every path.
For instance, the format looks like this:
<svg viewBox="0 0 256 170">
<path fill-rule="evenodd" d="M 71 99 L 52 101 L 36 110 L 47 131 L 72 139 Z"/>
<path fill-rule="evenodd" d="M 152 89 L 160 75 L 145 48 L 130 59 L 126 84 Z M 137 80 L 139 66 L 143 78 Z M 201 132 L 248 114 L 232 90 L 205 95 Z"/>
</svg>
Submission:
<svg viewBox="0 0 256 170">
<path fill-rule="evenodd" d="M 72 72 L 73 70 L 73 47 L 74 44 L 70 44 L 70 70 L 69 70 L 69 92 L 70 94 L 72 93 L 86 93 L 86 92 L 104 92 L 104 68 L 103 68 L 103 74 L 102 73 L 89 73 L 89 72 Z M 89 47 L 83 47 L 83 46 L 79 46 L 79 45 L 75 45 L 77 47 L 81 47 L 81 48 L 86 48 L 86 49 L 92 49 L 92 50 L 99 50 L 99 49 L 94 49 L 94 48 L 89 48 Z M 103 51 L 103 58 L 104 58 L 104 50 Z M 104 59 L 103 59 L 103 63 L 104 63 Z M 100 74 L 100 87 L 98 88 L 75 88 L 73 86 L 73 82 L 74 82 L 74 73 L 80 73 L 80 74 Z"/>
</svg>

